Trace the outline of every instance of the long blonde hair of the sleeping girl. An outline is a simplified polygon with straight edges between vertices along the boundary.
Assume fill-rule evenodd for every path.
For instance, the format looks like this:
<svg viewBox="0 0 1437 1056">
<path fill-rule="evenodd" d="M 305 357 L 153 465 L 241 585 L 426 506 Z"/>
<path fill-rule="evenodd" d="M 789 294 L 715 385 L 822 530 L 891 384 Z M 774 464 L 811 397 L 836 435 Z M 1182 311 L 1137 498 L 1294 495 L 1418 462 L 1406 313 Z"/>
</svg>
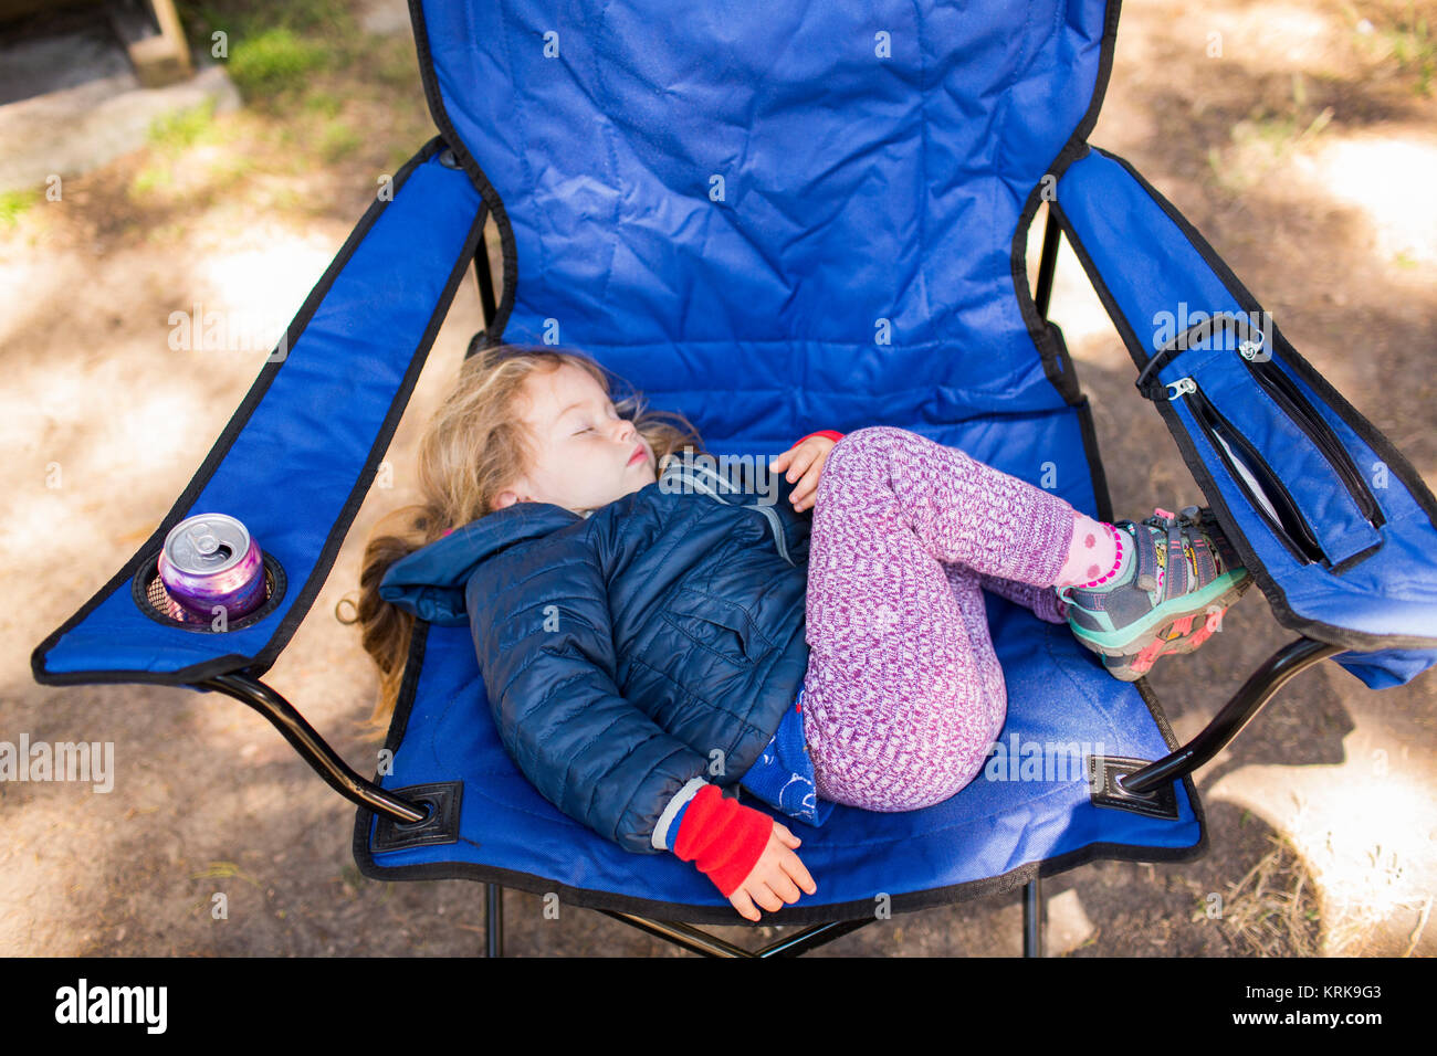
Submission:
<svg viewBox="0 0 1437 1056">
<path fill-rule="evenodd" d="M 494 511 L 500 491 L 527 476 L 535 464 L 535 437 L 516 407 L 525 382 L 537 371 L 558 371 L 569 363 L 586 371 L 612 399 L 608 372 L 591 356 L 555 348 L 494 345 L 470 355 L 458 384 L 428 422 L 418 451 L 422 500 L 385 514 L 371 530 L 359 573 L 355 615 L 341 624 L 359 624 L 361 644 L 379 670 L 379 691 L 369 723 L 379 730 L 389 721 L 399 697 L 415 616 L 379 596 L 379 582 L 401 557 Z M 639 435 L 654 450 L 655 464 L 691 447 L 701 451 L 697 430 L 681 414 L 650 411 L 642 394 L 615 401 L 622 418 L 632 418 Z M 670 424 L 671 418 L 677 424 Z"/>
</svg>

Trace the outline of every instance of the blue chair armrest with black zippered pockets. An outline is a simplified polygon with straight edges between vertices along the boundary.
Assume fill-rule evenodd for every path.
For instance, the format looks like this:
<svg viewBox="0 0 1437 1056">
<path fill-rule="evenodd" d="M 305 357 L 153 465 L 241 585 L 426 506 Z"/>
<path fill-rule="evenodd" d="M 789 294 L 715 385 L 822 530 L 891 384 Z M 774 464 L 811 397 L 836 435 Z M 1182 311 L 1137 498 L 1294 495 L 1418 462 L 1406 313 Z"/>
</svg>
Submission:
<svg viewBox="0 0 1437 1056">
<path fill-rule="evenodd" d="M 1408 460 L 1127 161 L 1089 148 L 1052 208 L 1140 372 L 1163 356 L 1144 395 L 1276 619 L 1374 688 L 1437 662 L 1437 500 Z"/>
</svg>

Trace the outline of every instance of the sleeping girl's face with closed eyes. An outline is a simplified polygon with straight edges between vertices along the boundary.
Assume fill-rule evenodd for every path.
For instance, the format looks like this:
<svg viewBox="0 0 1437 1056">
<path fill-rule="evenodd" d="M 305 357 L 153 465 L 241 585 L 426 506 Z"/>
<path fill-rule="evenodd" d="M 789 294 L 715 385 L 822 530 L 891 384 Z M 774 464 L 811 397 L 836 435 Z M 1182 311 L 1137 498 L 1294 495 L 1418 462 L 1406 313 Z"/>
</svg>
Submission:
<svg viewBox="0 0 1437 1056">
<path fill-rule="evenodd" d="M 588 371 L 569 363 L 535 371 L 519 409 L 533 431 L 537 464 L 499 493 L 499 509 L 553 503 L 582 513 L 658 480 L 652 448 Z"/>
</svg>

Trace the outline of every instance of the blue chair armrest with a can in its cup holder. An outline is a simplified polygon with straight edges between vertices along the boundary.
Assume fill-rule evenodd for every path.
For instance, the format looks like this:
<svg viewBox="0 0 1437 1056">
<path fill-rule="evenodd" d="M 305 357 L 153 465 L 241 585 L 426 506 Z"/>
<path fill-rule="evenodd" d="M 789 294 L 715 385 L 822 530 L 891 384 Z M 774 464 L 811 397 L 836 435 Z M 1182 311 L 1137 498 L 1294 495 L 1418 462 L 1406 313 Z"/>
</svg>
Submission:
<svg viewBox="0 0 1437 1056">
<path fill-rule="evenodd" d="M 154 534 L 36 647 L 36 681 L 188 685 L 270 668 L 329 575 L 480 246 L 486 205 L 443 147 L 430 141 L 368 208 Z M 226 632 L 168 621 L 138 582 L 171 527 L 214 511 L 249 527 L 285 585 L 262 618 Z"/>
</svg>

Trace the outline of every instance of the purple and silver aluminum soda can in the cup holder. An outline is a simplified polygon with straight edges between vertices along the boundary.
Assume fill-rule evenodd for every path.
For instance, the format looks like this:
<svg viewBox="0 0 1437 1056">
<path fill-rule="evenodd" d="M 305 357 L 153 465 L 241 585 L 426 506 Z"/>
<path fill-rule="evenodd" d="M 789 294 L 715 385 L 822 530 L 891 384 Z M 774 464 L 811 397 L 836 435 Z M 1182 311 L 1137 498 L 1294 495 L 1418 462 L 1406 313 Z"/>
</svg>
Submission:
<svg viewBox="0 0 1437 1056">
<path fill-rule="evenodd" d="M 250 530 L 224 513 L 185 517 L 170 530 L 160 579 L 170 616 L 185 624 L 208 624 L 216 605 L 230 621 L 264 603 L 264 555 Z"/>
</svg>

